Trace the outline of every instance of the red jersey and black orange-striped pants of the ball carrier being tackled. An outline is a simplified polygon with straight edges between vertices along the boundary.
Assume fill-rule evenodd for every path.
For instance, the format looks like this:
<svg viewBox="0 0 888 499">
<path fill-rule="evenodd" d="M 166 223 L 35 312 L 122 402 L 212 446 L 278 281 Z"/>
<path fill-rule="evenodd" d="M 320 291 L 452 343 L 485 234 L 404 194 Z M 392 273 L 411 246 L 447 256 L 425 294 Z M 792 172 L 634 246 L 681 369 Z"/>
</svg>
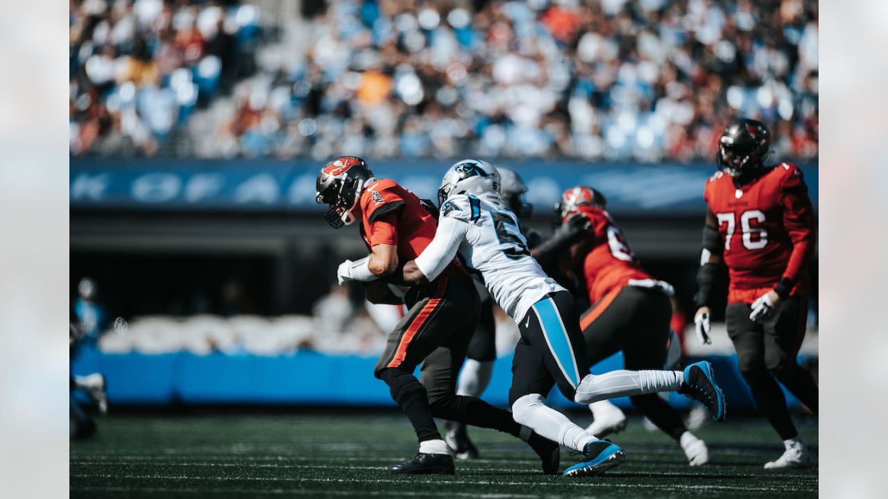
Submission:
<svg viewBox="0 0 888 499">
<path fill-rule="evenodd" d="M 359 205 L 367 247 L 395 245 L 402 263 L 416 259 L 438 227 L 419 198 L 392 180 L 371 181 Z M 419 441 L 440 439 L 432 416 L 518 436 L 510 412 L 456 395 L 456 376 L 480 315 L 478 292 L 464 268 L 453 260 L 434 281 L 409 288 L 404 301 L 408 313 L 389 334 L 374 374 L 389 385 Z M 413 371 L 420 363 L 417 382 Z"/>
</svg>

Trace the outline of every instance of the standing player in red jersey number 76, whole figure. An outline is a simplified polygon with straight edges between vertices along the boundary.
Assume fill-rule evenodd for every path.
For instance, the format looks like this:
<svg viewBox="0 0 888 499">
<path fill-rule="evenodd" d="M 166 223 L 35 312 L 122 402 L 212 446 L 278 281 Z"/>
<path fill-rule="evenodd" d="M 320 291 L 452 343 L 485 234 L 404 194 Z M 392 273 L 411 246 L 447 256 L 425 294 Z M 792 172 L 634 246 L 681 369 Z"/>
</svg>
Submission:
<svg viewBox="0 0 888 499">
<path fill-rule="evenodd" d="M 765 125 L 745 118 L 729 124 L 718 140 L 719 170 L 703 194 L 709 210 L 694 315 L 697 336 L 710 343 L 713 291 L 727 265 L 727 333 L 756 405 L 786 448 L 766 469 L 813 463 L 777 381 L 815 414 L 818 397 L 811 373 L 796 362 L 805 336 L 813 206 L 802 170 L 788 162 L 765 166 L 770 145 Z"/>
</svg>

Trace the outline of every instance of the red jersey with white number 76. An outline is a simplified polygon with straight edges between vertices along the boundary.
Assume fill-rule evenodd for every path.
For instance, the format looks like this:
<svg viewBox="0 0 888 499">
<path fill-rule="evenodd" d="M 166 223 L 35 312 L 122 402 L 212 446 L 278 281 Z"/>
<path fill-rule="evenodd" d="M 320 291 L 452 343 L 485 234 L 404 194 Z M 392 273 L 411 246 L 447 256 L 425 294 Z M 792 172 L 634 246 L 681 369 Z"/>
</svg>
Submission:
<svg viewBox="0 0 888 499">
<path fill-rule="evenodd" d="M 718 171 L 703 199 L 724 242 L 728 303 L 752 303 L 783 277 L 796 283 L 790 296 L 807 294 L 814 210 L 802 170 L 782 162 L 739 188 Z"/>
</svg>

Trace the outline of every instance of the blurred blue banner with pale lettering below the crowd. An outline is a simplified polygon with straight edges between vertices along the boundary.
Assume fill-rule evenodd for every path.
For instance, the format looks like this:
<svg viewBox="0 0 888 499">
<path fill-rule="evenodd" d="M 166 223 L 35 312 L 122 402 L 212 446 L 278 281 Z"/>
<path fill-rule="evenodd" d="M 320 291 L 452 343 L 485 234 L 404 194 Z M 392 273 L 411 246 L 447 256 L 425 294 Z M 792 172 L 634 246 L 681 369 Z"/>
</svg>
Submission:
<svg viewBox="0 0 888 499">
<path fill-rule="evenodd" d="M 451 161 L 381 161 L 377 178 L 393 178 L 418 196 L 435 200 Z M 108 160 L 71 159 L 72 209 L 318 211 L 314 180 L 321 162 L 306 160 Z M 701 216 L 703 185 L 711 163 L 567 161 L 510 162 L 528 186 L 527 201 L 549 214 L 570 186 L 593 186 L 607 196 L 608 210 L 646 217 Z M 816 163 L 802 166 L 815 210 Z"/>
</svg>

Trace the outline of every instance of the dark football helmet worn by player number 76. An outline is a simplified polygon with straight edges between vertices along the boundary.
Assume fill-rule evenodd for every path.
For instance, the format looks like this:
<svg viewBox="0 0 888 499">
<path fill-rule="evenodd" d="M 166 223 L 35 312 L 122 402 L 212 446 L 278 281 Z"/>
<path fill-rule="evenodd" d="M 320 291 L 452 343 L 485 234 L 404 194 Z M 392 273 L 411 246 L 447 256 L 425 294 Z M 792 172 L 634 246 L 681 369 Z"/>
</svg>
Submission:
<svg viewBox="0 0 888 499">
<path fill-rule="evenodd" d="M 749 178 L 762 167 L 771 147 L 771 133 L 756 120 L 738 118 L 718 139 L 718 169 L 735 180 Z"/>
</svg>

